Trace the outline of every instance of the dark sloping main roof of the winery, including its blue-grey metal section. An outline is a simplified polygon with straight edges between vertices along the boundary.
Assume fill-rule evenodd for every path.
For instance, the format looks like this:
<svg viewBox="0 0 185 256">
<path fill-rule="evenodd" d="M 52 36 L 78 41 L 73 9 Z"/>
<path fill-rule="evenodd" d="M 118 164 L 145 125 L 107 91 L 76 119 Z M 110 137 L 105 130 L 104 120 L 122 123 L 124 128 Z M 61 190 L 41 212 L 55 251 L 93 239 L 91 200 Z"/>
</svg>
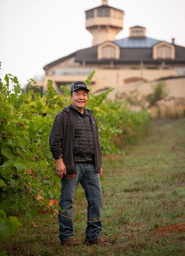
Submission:
<svg viewBox="0 0 185 256">
<path fill-rule="evenodd" d="M 145 63 L 161 63 L 162 59 L 153 59 L 153 46 L 159 42 L 157 39 L 148 38 L 148 37 L 128 37 L 116 40 L 112 43 L 115 43 L 120 46 L 120 59 L 114 59 L 116 65 L 125 64 L 125 63 L 140 63 L 144 61 Z M 184 65 L 185 63 L 185 47 L 174 45 L 175 46 L 175 60 L 165 59 L 165 63 L 169 64 L 180 64 Z M 97 58 L 97 48 L 98 45 L 88 47 L 86 49 L 81 49 L 79 51 L 73 52 L 63 58 L 55 60 L 51 63 L 48 63 L 44 69 L 47 74 L 47 68 L 57 65 L 58 63 L 63 62 L 64 60 L 75 58 L 75 62 L 85 61 L 96 65 L 97 64 L 107 64 L 110 63 L 110 59 L 98 59 Z"/>
</svg>

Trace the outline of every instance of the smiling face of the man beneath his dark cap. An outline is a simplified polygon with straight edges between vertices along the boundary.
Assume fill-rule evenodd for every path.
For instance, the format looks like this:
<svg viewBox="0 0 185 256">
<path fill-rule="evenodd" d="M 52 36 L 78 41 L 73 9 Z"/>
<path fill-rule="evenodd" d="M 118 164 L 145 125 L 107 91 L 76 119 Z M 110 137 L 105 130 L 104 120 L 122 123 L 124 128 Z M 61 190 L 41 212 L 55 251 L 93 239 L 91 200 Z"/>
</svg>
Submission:
<svg viewBox="0 0 185 256">
<path fill-rule="evenodd" d="M 72 106 L 77 109 L 80 113 L 83 113 L 83 109 L 87 105 L 88 92 L 83 89 L 78 89 L 70 95 Z"/>
</svg>

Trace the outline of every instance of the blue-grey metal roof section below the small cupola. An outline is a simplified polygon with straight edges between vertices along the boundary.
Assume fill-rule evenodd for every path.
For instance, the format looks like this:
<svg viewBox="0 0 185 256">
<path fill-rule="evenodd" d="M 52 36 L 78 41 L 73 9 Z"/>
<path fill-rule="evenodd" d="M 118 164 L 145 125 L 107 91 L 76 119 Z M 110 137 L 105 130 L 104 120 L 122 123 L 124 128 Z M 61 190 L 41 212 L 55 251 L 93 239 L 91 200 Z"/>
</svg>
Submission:
<svg viewBox="0 0 185 256">
<path fill-rule="evenodd" d="M 114 41 L 121 48 L 151 48 L 161 41 L 149 37 L 127 37 Z"/>
</svg>

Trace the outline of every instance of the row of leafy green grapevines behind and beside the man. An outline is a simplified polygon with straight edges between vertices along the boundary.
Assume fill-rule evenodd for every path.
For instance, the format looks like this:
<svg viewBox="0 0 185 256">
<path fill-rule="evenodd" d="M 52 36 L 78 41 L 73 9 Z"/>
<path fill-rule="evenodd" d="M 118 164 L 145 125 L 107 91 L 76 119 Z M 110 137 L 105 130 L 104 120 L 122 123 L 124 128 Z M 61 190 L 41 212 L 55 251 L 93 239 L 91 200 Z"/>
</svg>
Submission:
<svg viewBox="0 0 185 256">
<path fill-rule="evenodd" d="M 87 84 L 93 74 L 88 77 Z M 45 210 L 48 207 L 53 211 L 64 210 L 54 203 L 60 200 L 61 185 L 55 175 L 48 138 L 55 115 L 71 103 L 70 91 L 62 86 L 64 95 L 57 95 L 53 82 L 48 80 L 46 93 L 41 97 L 31 89 L 32 82 L 31 79 L 28 93 L 21 93 L 18 78 L 11 74 L 5 76 L 4 84 L 1 82 L 0 221 L 4 230 L 9 230 L 4 237 L 21 225 L 10 214 L 21 212 L 33 217 L 38 214 L 40 199 Z M 107 100 L 111 90 L 98 95 L 89 93 L 87 106 L 94 110 L 102 152 L 107 155 L 119 152 L 114 138 L 121 135 L 123 143 L 134 142 L 145 132 L 150 119 L 145 111 L 132 113 L 125 103 Z M 13 218 L 11 227 L 7 224 L 9 218 Z"/>
</svg>

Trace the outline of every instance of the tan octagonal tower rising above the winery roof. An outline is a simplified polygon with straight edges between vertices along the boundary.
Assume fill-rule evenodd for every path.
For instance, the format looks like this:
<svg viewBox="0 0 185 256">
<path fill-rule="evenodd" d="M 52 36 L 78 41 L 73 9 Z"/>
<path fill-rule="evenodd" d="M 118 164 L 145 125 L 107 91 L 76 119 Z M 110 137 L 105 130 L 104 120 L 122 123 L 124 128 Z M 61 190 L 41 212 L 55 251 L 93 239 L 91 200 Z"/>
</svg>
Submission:
<svg viewBox="0 0 185 256">
<path fill-rule="evenodd" d="M 108 6 L 107 0 L 102 5 L 86 12 L 86 28 L 93 34 L 93 45 L 114 41 L 115 36 L 123 29 L 122 10 Z"/>
</svg>

